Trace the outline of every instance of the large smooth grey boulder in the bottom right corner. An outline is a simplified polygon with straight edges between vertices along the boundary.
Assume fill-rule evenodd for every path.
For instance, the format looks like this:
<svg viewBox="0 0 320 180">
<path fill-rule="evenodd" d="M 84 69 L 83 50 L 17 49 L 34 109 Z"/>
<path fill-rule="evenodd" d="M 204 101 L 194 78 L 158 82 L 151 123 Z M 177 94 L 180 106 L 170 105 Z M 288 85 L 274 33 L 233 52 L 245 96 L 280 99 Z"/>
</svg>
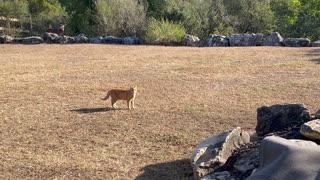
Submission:
<svg viewBox="0 0 320 180">
<path fill-rule="evenodd" d="M 247 180 L 320 178 L 320 147 L 314 142 L 269 136 L 262 140 L 259 153 L 259 167 Z"/>
</svg>

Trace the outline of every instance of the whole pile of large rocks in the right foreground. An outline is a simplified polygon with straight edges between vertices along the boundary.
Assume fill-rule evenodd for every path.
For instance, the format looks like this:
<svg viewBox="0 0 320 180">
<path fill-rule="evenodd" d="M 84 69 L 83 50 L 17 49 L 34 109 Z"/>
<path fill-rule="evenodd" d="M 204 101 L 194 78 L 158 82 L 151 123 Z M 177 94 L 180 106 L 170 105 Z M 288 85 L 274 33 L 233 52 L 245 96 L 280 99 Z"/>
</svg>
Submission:
<svg viewBox="0 0 320 180">
<path fill-rule="evenodd" d="M 319 117 L 320 111 L 310 115 L 303 104 L 260 107 L 256 132 L 238 127 L 195 148 L 194 176 L 201 180 L 317 179 Z"/>
</svg>

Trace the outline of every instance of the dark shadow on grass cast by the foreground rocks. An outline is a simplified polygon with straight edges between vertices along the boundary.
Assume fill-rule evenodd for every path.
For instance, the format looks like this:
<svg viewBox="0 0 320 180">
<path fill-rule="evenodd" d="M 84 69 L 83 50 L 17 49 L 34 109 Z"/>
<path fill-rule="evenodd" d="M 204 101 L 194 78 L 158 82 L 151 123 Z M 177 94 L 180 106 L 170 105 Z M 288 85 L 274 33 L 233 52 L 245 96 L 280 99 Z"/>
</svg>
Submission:
<svg viewBox="0 0 320 180">
<path fill-rule="evenodd" d="M 152 164 L 144 167 L 142 170 L 144 170 L 144 173 L 136 177 L 135 180 L 194 179 L 189 159 Z"/>
</svg>

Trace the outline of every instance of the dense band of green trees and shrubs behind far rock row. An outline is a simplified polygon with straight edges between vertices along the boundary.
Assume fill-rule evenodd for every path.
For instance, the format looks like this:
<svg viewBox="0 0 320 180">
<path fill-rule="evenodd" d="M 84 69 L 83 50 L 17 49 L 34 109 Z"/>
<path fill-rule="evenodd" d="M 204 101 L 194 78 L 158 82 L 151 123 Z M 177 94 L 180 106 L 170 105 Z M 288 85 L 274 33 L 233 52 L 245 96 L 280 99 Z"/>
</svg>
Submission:
<svg viewBox="0 0 320 180">
<path fill-rule="evenodd" d="M 0 26 L 7 27 L 3 33 L 15 35 L 10 18 L 19 19 L 29 35 L 65 24 L 69 35 L 149 38 L 151 29 L 174 30 L 170 24 L 199 37 L 278 31 L 320 38 L 319 0 L 0 0 L 0 17 Z M 154 27 L 162 25 L 162 31 Z"/>
</svg>

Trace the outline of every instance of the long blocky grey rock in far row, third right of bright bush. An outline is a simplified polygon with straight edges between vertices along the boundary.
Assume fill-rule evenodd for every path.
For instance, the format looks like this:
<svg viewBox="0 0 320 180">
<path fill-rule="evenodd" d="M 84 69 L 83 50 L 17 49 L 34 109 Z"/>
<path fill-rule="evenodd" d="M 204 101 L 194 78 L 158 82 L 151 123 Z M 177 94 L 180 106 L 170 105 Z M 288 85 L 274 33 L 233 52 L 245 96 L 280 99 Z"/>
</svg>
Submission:
<svg viewBox="0 0 320 180">
<path fill-rule="evenodd" d="M 230 46 L 261 46 L 263 34 L 233 34 L 229 41 Z"/>
</svg>

